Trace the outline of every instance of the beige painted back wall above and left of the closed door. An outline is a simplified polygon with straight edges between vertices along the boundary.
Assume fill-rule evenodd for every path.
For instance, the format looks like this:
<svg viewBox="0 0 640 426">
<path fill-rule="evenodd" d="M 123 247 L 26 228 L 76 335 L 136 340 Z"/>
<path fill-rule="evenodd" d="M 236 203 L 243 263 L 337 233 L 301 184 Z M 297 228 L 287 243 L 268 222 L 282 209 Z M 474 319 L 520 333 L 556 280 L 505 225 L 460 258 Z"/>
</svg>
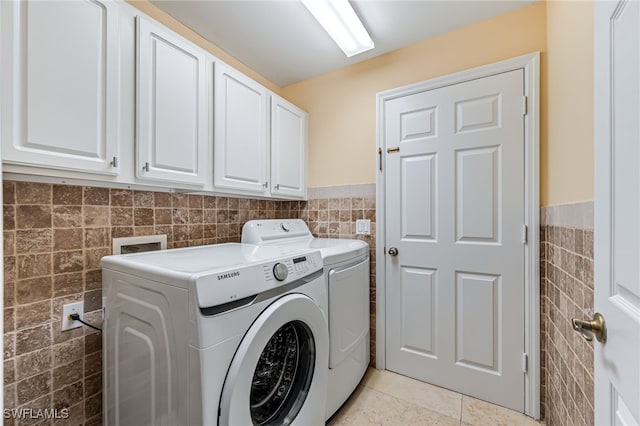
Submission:
<svg viewBox="0 0 640 426">
<path fill-rule="evenodd" d="M 540 2 L 284 87 L 309 112 L 309 186 L 375 182 L 377 92 L 545 50 Z"/>
</svg>

